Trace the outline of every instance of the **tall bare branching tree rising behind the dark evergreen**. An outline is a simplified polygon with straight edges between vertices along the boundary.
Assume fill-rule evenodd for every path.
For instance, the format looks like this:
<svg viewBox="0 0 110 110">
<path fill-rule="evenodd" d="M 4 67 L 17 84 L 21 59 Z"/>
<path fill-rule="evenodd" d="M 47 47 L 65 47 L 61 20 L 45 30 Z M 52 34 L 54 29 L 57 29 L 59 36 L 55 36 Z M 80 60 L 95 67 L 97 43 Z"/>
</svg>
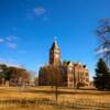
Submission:
<svg viewBox="0 0 110 110">
<path fill-rule="evenodd" d="M 99 41 L 97 52 L 106 61 L 108 67 L 110 67 L 110 18 L 100 20 L 96 34 Z"/>
</svg>

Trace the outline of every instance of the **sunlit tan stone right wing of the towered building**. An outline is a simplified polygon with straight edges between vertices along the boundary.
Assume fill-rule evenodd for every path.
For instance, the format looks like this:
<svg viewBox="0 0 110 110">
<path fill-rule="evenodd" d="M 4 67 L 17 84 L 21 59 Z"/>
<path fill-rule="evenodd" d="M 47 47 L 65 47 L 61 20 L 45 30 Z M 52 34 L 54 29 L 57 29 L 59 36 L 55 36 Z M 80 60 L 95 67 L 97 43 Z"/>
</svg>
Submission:
<svg viewBox="0 0 110 110">
<path fill-rule="evenodd" d="M 68 63 L 67 66 L 67 86 L 89 86 L 89 75 L 86 65 L 80 63 Z"/>
</svg>

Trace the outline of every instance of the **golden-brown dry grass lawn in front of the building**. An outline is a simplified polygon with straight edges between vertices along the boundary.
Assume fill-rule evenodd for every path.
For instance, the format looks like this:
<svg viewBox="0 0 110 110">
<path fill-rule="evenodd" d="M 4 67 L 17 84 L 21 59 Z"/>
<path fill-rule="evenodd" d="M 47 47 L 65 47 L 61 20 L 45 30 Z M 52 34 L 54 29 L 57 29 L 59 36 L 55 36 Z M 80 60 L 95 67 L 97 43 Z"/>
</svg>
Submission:
<svg viewBox="0 0 110 110">
<path fill-rule="evenodd" d="M 52 87 L 35 87 L 35 88 L 0 88 L 0 110 L 73 110 L 72 108 L 62 107 L 62 103 L 110 103 L 109 91 L 97 90 L 77 90 L 77 89 L 58 89 L 58 103 L 53 105 L 36 105 L 34 100 L 52 100 L 55 102 L 55 92 Z M 105 110 L 110 110 L 106 108 Z M 79 108 L 75 108 L 79 110 Z M 85 110 L 85 109 L 84 109 Z M 103 109 L 102 109 L 103 110 Z"/>
</svg>

